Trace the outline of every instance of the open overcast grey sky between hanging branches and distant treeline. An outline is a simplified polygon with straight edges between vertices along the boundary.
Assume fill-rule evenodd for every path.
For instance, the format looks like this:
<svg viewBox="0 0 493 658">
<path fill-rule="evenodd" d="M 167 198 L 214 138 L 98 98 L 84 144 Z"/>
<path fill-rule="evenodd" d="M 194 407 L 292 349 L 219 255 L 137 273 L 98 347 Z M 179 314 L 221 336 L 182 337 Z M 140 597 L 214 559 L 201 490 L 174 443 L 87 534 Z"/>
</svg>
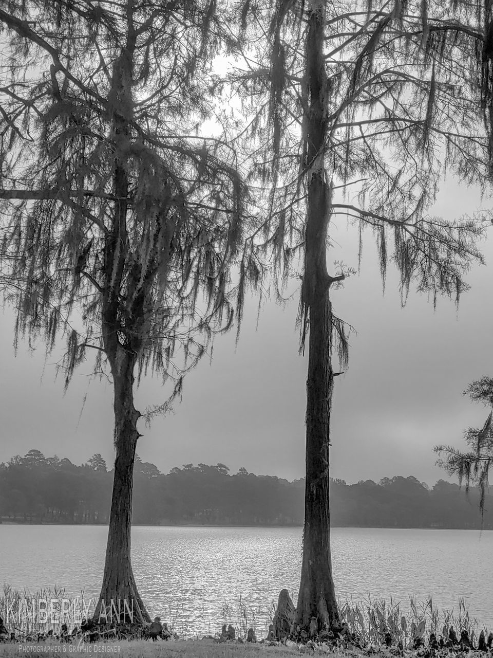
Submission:
<svg viewBox="0 0 493 658">
<path fill-rule="evenodd" d="M 452 218 L 473 212 L 481 201 L 474 190 L 444 186 L 434 211 Z M 482 207 L 493 205 L 483 201 Z M 330 261 L 357 266 L 354 229 L 343 222 L 331 234 L 337 246 Z M 350 322 L 350 367 L 336 380 L 333 397 L 331 476 L 347 482 L 414 475 L 433 485 L 446 475 L 434 465 L 433 445 L 460 445 L 463 429 L 484 423 L 484 407 L 461 392 L 493 374 L 493 236 L 482 243 L 489 266 L 475 267 L 471 290 L 459 309 L 439 299 L 436 311 L 425 295 L 411 293 L 400 305 L 398 282 L 389 271 L 382 293 L 371 234 L 364 243 L 360 274 L 333 293 L 335 313 Z M 256 474 L 290 480 L 304 475 L 306 358 L 298 355 L 295 328 L 298 293 L 285 307 L 266 301 L 257 326 L 256 301 L 247 305 L 241 338 L 233 333 L 214 345 L 185 379 L 183 401 L 172 415 L 139 427 L 137 452 L 162 472 L 184 463 L 223 462 Z M 114 460 L 112 388 L 89 381 L 82 366 L 63 395 L 55 380 L 55 357 L 43 345 L 29 355 L 20 343 L 12 354 L 12 315 L 1 316 L 0 461 L 37 448 L 80 464 L 93 453 Z M 83 396 L 87 400 L 82 411 Z M 137 409 L 164 399 L 159 380 L 146 380 Z"/>
</svg>

